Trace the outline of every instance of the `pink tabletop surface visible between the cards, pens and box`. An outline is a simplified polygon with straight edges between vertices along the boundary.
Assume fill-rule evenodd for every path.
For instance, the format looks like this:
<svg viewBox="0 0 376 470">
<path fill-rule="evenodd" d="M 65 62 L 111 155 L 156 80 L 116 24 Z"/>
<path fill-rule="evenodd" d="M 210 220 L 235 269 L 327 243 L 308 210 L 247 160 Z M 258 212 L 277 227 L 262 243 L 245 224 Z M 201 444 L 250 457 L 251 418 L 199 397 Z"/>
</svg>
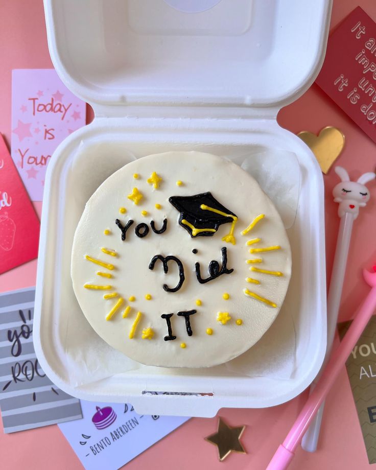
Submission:
<svg viewBox="0 0 376 470">
<path fill-rule="evenodd" d="M 335 0 L 332 26 L 357 5 L 376 21 L 374 0 Z M 45 35 L 42 2 L 3 0 L 0 6 L 0 132 L 10 142 L 11 70 L 12 68 L 52 67 Z M 376 166 L 376 146 L 324 93 L 313 85 L 298 101 L 280 111 L 278 121 L 292 132 L 310 130 L 318 133 L 331 125 L 340 128 L 346 136 L 346 146 L 338 163 L 351 176 L 358 177 Z M 338 230 L 337 205 L 332 202 L 331 189 L 338 181 L 331 171 L 324 177 L 326 186 L 326 256 L 328 274 L 333 262 L 335 238 Z M 372 187 L 371 187 L 372 186 Z M 370 183 L 371 201 L 362 210 L 353 231 L 348 260 L 340 320 L 351 318 L 367 287 L 360 277 L 361 269 L 376 261 L 374 233 L 376 229 L 376 185 Z M 372 201 L 373 198 L 373 201 Z M 36 204 L 40 214 L 40 203 Z M 18 267 L 0 276 L 0 291 L 35 285 L 36 261 Z M 242 442 L 248 455 L 232 453 L 224 462 L 217 459 L 217 449 L 204 441 L 215 432 L 217 419 L 193 418 L 151 449 L 127 465 L 127 469 L 192 468 L 222 470 L 263 470 L 278 444 L 283 441 L 298 411 L 307 398 L 307 392 L 278 407 L 260 410 L 224 409 L 220 411 L 230 426 L 247 425 Z M 319 449 L 308 454 L 298 449 L 291 470 L 364 470 L 368 460 L 358 416 L 345 368 L 326 401 Z M 0 425 L 1 426 L 1 425 Z M 18 470 L 26 465 L 30 470 L 82 468 L 57 426 L 5 435 L 0 429 L 2 467 Z M 49 463 L 46 463 L 49 462 Z"/>
</svg>

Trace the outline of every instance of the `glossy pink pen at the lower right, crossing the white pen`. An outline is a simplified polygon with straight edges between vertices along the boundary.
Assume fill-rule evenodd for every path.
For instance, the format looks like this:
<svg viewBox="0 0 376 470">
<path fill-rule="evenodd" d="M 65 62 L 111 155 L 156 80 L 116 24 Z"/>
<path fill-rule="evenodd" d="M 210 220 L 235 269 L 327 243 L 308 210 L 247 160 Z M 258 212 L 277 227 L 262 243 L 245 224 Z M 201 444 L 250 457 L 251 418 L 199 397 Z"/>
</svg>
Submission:
<svg viewBox="0 0 376 470">
<path fill-rule="evenodd" d="M 267 470 L 283 470 L 287 468 L 294 458 L 294 451 L 299 445 L 304 433 L 315 417 L 326 394 L 332 387 L 338 373 L 344 366 L 348 356 L 351 354 L 364 328 L 367 326 L 374 310 L 376 309 L 376 266 L 373 266 L 373 273 L 364 270 L 363 276 L 366 283 L 372 288 L 365 298 L 353 323 L 351 323 L 347 333 L 343 337 L 341 344 L 333 353 L 331 359 L 323 370 L 316 387 L 309 396 L 297 417 L 289 434 L 283 444 L 279 445 L 276 453 L 271 459 Z"/>
</svg>

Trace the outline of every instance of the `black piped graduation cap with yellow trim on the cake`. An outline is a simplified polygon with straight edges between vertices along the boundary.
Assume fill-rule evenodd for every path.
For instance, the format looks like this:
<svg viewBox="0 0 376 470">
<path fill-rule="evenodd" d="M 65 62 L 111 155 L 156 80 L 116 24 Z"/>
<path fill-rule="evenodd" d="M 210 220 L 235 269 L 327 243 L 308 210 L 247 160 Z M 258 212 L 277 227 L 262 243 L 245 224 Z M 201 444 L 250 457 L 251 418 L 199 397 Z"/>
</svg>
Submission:
<svg viewBox="0 0 376 470">
<path fill-rule="evenodd" d="M 172 196 L 169 201 L 180 212 L 179 224 L 191 237 L 212 237 L 220 225 L 237 220 L 212 193 Z"/>
</svg>

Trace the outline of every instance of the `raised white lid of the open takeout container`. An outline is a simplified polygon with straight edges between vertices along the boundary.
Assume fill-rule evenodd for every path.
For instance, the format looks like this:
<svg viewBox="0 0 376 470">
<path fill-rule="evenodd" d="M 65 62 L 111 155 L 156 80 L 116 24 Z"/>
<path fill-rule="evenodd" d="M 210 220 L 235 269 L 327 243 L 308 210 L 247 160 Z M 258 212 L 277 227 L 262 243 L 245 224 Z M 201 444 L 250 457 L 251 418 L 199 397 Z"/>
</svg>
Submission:
<svg viewBox="0 0 376 470">
<path fill-rule="evenodd" d="M 275 116 L 316 78 L 331 4 L 44 0 L 57 73 L 107 116 L 149 104 L 210 106 L 209 117 L 214 105 L 263 107 Z"/>
</svg>

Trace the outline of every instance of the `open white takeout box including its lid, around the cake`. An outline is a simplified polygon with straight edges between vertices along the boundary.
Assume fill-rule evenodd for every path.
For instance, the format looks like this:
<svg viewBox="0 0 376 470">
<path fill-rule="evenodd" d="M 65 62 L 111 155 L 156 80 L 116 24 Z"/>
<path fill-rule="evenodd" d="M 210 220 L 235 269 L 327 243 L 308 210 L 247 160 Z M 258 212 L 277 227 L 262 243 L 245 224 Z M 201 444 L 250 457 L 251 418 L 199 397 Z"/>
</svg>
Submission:
<svg viewBox="0 0 376 470">
<path fill-rule="evenodd" d="M 268 407 L 295 397 L 314 379 L 326 347 L 323 181 L 312 152 L 278 126 L 276 115 L 319 72 L 331 1 L 44 0 L 44 8 L 57 73 L 90 103 L 95 119 L 60 144 L 45 179 L 34 313 L 43 370 L 67 393 L 130 402 L 143 414 L 214 416 L 222 407 Z M 224 366 L 144 366 L 72 383 L 60 338 L 66 312 L 83 314 L 70 251 L 84 205 L 102 181 L 129 155 L 197 150 L 234 157 L 271 148 L 294 152 L 301 170 L 297 218 L 288 230 L 291 378 L 248 377 Z"/>
</svg>

